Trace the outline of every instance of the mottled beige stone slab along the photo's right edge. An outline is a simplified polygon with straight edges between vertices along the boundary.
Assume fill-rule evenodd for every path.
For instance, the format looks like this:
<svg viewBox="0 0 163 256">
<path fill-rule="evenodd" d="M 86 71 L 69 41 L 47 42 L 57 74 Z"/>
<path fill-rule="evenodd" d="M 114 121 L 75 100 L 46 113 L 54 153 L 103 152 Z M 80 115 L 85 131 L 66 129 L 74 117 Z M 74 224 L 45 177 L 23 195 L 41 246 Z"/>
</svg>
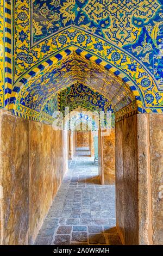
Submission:
<svg viewBox="0 0 163 256">
<path fill-rule="evenodd" d="M 154 245 L 163 245 L 163 114 L 149 115 Z M 162 192 L 161 192 L 162 191 Z"/>
</svg>

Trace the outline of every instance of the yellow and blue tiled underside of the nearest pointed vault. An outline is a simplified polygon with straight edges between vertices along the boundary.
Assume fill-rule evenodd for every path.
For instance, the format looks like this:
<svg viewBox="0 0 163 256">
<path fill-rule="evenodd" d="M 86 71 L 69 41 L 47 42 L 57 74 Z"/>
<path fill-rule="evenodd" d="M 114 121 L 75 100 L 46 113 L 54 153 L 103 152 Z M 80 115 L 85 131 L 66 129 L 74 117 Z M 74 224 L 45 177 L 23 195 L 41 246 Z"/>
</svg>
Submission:
<svg viewBox="0 0 163 256">
<path fill-rule="evenodd" d="M 40 112 L 47 100 L 76 83 L 103 95 L 115 111 L 135 99 L 127 84 L 117 76 L 74 53 L 58 64 L 57 68 L 49 66 L 46 71 L 25 84 L 18 96 L 16 107 L 22 105 Z"/>
</svg>

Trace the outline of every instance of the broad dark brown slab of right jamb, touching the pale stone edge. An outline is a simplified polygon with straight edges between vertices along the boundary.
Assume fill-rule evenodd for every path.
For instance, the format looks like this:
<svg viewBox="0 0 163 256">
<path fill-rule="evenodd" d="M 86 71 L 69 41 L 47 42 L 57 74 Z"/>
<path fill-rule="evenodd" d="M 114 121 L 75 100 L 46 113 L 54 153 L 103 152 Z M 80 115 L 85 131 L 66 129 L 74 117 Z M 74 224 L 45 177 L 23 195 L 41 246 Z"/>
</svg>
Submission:
<svg viewBox="0 0 163 256">
<path fill-rule="evenodd" d="M 124 119 L 123 123 L 125 245 L 139 243 L 137 178 L 137 115 L 134 115 Z"/>
</svg>

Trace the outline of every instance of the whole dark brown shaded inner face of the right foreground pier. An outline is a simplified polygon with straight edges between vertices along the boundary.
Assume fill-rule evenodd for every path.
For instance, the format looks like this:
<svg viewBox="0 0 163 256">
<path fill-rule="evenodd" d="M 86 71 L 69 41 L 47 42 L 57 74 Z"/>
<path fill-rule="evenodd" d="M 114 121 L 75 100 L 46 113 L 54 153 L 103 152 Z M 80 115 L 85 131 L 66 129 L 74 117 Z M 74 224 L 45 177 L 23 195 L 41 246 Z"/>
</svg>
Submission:
<svg viewBox="0 0 163 256">
<path fill-rule="evenodd" d="M 116 123 L 116 218 L 122 243 L 138 244 L 137 116 Z"/>
</svg>

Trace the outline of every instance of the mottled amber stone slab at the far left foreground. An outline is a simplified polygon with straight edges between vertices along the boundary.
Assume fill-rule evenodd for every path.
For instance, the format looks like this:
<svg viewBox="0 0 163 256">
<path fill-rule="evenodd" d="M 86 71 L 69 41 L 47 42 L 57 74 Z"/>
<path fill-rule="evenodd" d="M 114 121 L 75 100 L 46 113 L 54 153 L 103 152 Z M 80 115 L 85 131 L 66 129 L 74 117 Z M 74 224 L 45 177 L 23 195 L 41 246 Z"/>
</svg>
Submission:
<svg viewBox="0 0 163 256">
<path fill-rule="evenodd" d="M 1 244 L 27 244 L 29 236 L 29 121 L 1 111 Z"/>
</svg>

